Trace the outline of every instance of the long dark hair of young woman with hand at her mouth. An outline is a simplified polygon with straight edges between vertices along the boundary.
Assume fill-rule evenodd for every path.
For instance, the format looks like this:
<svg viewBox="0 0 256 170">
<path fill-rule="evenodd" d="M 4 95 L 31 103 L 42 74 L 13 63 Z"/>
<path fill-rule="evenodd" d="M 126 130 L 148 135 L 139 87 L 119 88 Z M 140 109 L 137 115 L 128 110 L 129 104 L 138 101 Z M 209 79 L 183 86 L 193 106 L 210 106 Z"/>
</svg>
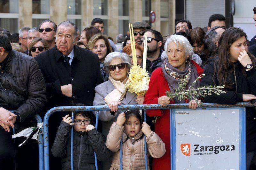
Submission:
<svg viewBox="0 0 256 170">
<path fill-rule="evenodd" d="M 220 85 L 226 85 L 225 87 L 228 89 L 232 88 L 232 84 L 235 82 L 231 82 L 230 75 L 233 72 L 233 68 L 230 68 L 230 65 L 233 65 L 234 63 L 230 60 L 230 53 L 229 49 L 230 46 L 239 38 L 245 37 L 247 39 L 246 33 L 241 30 L 240 28 L 236 27 L 230 27 L 227 30 L 225 30 L 219 39 L 219 46 L 217 48 L 218 50 L 218 59 L 216 62 L 217 70 L 215 70 L 215 73 L 217 72 L 217 80 L 220 82 Z M 252 64 L 255 67 L 256 66 L 256 60 L 255 57 L 247 52 L 249 57 L 252 60 Z M 216 67 L 215 67 L 216 68 Z M 246 76 L 245 68 L 243 68 L 243 74 Z M 213 76 L 214 77 L 214 76 Z M 214 82 L 214 80 L 213 80 Z M 216 84 L 216 82 L 215 82 Z"/>
</svg>

